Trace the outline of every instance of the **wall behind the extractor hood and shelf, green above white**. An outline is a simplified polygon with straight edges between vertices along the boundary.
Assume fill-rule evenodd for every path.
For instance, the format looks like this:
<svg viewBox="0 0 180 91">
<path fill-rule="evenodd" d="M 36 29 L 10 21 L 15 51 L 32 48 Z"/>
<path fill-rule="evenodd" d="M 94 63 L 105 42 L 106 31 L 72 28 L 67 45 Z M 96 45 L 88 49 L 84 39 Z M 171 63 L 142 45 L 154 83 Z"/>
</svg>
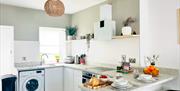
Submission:
<svg viewBox="0 0 180 91">
<path fill-rule="evenodd" d="M 137 23 L 135 25 L 137 31 L 139 31 L 139 0 L 111 0 L 110 3 L 113 6 L 113 20 L 116 21 L 117 34 L 121 33 L 122 21 L 129 16 L 136 18 Z M 94 23 L 100 20 L 99 10 L 102 4 L 72 15 L 72 25 L 78 26 L 78 35 L 94 32 Z M 75 46 L 73 46 L 72 50 L 76 51 L 77 54 L 81 54 L 78 53 L 79 47 L 77 44 L 74 43 Z M 79 43 L 79 46 L 82 46 L 82 44 Z M 76 55 L 74 52 L 72 53 L 72 55 Z M 137 63 L 135 66 L 139 65 L 139 38 L 91 41 L 87 62 L 88 64 L 117 65 L 121 61 L 121 55 L 136 58 Z"/>
</svg>

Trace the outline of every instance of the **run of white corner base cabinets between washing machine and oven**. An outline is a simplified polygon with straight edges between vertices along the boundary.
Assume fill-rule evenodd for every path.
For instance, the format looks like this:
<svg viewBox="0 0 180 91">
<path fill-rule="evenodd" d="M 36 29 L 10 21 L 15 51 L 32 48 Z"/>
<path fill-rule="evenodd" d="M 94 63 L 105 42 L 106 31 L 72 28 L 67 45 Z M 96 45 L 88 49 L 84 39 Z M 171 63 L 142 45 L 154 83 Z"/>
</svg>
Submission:
<svg viewBox="0 0 180 91">
<path fill-rule="evenodd" d="M 45 91 L 81 91 L 82 71 L 67 67 L 45 69 Z"/>
</svg>

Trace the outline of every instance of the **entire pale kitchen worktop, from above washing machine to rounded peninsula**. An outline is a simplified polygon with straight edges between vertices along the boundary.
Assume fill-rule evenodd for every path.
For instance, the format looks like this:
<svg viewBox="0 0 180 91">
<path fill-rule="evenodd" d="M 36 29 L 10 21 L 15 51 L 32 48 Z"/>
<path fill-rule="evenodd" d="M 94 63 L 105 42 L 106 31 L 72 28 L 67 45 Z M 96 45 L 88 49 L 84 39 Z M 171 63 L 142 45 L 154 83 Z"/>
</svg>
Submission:
<svg viewBox="0 0 180 91">
<path fill-rule="evenodd" d="M 91 73 L 100 74 L 100 75 L 108 75 L 113 78 L 115 78 L 116 75 L 119 74 L 116 72 L 116 70 L 101 71 L 101 70 L 92 69 L 94 67 L 97 67 L 97 66 L 93 66 L 93 65 L 78 65 L 78 64 L 63 64 L 63 63 L 32 66 L 32 67 L 17 67 L 17 70 L 25 71 L 25 70 L 43 69 L 43 68 L 47 69 L 47 68 L 52 68 L 52 67 L 69 67 L 69 68 L 73 68 L 73 69 L 77 69 L 77 70 L 88 71 Z M 142 68 L 137 68 L 137 69 L 142 70 Z M 151 82 L 151 83 L 145 83 L 145 82 L 138 81 L 138 80 L 134 79 L 133 74 L 123 74 L 123 77 L 125 79 L 127 79 L 133 85 L 133 87 L 131 89 L 126 90 L 126 91 L 143 91 L 142 89 L 152 88 L 153 86 L 158 86 L 158 85 L 167 83 L 169 81 L 176 79 L 176 77 L 178 76 L 178 70 L 176 70 L 176 69 L 160 68 L 160 73 L 161 74 L 157 78 L 158 80 L 155 82 Z M 83 86 L 80 86 L 80 87 L 83 91 L 91 91 L 91 89 L 85 88 Z M 95 91 L 121 91 L 121 90 L 114 89 L 112 87 L 106 87 L 106 88 L 98 89 Z"/>
</svg>

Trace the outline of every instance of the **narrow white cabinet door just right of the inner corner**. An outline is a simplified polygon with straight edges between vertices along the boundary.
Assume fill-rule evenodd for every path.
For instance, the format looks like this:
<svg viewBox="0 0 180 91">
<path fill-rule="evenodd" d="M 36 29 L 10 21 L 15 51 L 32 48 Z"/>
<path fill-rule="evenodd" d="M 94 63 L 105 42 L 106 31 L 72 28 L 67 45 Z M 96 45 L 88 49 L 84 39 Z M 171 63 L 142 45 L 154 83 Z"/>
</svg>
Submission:
<svg viewBox="0 0 180 91">
<path fill-rule="evenodd" d="M 74 91 L 73 69 L 64 68 L 64 91 Z"/>
</svg>

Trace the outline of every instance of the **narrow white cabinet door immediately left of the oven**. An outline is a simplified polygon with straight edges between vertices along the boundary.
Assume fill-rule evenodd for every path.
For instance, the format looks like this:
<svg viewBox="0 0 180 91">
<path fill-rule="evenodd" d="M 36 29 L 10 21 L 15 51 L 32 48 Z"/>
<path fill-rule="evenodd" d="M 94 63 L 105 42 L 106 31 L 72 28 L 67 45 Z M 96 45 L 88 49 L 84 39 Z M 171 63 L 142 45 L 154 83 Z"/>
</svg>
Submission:
<svg viewBox="0 0 180 91">
<path fill-rule="evenodd" d="M 74 91 L 81 91 L 79 86 L 82 84 L 82 71 L 74 70 Z"/>
</svg>

